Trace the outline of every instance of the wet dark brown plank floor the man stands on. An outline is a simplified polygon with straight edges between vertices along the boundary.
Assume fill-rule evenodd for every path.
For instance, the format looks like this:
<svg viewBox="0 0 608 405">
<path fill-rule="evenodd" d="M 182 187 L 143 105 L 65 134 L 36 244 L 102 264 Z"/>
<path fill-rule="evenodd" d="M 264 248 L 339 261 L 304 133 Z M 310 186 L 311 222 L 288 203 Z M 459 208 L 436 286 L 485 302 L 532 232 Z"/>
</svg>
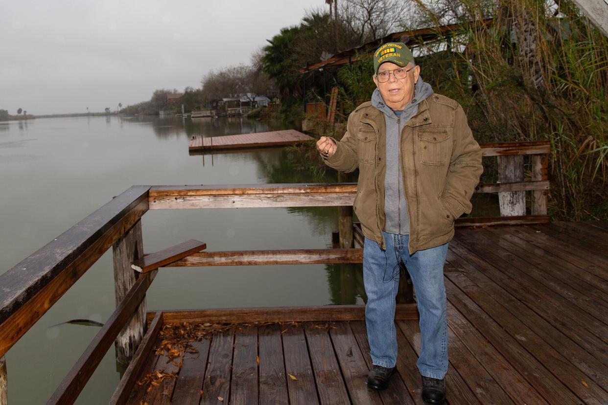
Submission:
<svg viewBox="0 0 608 405">
<path fill-rule="evenodd" d="M 460 228 L 445 283 L 450 404 L 608 403 L 608 222 Z M 241 322 L 255 311 L 263 318 L 264 310 L 248 310 Z M 162 314 L 165 322 L 186 321 L 193 311 Z M 167 349 L 167 336 L 158 333 L 168 330 L 161 313 L 150 320 L 148 346 Z M 148 379 L 156 381 L 139 386 L 123 378 L 115 398 L 123 392 L 133 404 L 421 404 L 418 322 L 396 326 L 398 374 L 382 392 L 365 386 L 367 335 L 363 319 L 354 319 L 224 326 L 173 361 L 166 350 L 157 355 L 142 344 L 136 359 L 143 367 L 131 381 L 158 370 Z M 173 376 L 159 377 L 165 375 Z"/>
</svg>

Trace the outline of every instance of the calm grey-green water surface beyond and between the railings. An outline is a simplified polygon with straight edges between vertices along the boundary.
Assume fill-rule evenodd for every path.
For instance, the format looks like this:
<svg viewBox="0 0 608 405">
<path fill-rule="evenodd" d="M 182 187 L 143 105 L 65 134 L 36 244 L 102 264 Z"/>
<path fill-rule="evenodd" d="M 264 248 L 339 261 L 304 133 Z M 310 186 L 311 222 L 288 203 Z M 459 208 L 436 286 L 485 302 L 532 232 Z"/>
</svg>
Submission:
<svg viewBox="0 0 608 405">
<path fill-rule="evenodd" d="M 131 185 L 311 182 L 288 149 L 189 155 L 193 134 L 282 129 L 241 118 L 42 118 L 0 123 L 0 273 Z M 328 179 L 331 180 L 331 179 Z M 207 250 L 325 248 L 337 208 L 148 211 L 145 251 L 187 239 Z M 161 269 L 148 310 L 362 303 L 356 266 L 292 265 Z M 7 353 L 10 404 L 45 403 L 114 310 L 111 250 Z M 112 347 L 78 398 L 105 404 L 120 379 Z"/>
</svg>

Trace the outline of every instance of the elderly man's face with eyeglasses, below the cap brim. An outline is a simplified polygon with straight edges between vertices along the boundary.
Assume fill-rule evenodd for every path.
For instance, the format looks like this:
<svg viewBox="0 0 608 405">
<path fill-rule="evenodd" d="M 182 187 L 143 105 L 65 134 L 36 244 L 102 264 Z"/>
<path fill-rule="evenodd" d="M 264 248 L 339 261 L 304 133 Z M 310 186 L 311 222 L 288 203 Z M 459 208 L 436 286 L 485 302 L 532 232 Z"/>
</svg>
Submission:
<svg viewBox="0 0 608 405">
<path fill-rule="evenodd" d="M 408 63 L 406 67 L 401 68 L 398 64 L 385 62 L 378 68 L 378 73 L 395 69 L 409 70 L 412 69 L 412 64 Z M 393 110 L 402 110 L 412 100 L 414 84 L 418 80 L 419 74 L 420 66 L 415 66 L 407 72 L 407 76 L 403 79 L 396 78 L 394 73 L 389 73 L 389 80 L 384 83 L 380 83 L 376 76 L 373 79 L 387 106 Z"/>
</svg>

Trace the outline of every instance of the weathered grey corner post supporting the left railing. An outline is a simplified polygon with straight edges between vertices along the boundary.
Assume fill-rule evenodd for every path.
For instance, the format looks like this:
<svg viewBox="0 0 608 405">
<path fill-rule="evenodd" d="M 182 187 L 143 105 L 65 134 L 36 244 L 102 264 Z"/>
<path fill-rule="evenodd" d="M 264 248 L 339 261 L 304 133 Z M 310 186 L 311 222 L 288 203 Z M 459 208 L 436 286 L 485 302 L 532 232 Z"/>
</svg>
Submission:
<svg viewBox="0 0 608 405">
<path fill-rule="evenodd" d="M 131 268 L 131 262 L 143 256 L 142 222 L 137 221 L 112 247 L 114 259 L 114 291 L 116 306 L 125 297 L 140 274 Z M 131 319 L 116 338 L 117 360 L 128 364 L 139 342 L 142 341 L 146 325 L 146 300 L 142 299 Z"/>
</svg>

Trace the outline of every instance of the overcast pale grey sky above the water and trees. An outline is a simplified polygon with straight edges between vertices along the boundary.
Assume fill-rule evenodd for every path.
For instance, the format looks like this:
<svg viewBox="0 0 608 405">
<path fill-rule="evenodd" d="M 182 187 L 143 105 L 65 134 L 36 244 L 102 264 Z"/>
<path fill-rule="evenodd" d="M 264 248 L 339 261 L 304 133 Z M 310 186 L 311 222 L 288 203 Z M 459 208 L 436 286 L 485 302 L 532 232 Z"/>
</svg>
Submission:
<svg viewBox="0 0 608 405">
<path fill-rule="evenodd" d="M 324 0 L 2 1 L 0 109 L 103 111 L 249 63 Z"/>
</svg>

